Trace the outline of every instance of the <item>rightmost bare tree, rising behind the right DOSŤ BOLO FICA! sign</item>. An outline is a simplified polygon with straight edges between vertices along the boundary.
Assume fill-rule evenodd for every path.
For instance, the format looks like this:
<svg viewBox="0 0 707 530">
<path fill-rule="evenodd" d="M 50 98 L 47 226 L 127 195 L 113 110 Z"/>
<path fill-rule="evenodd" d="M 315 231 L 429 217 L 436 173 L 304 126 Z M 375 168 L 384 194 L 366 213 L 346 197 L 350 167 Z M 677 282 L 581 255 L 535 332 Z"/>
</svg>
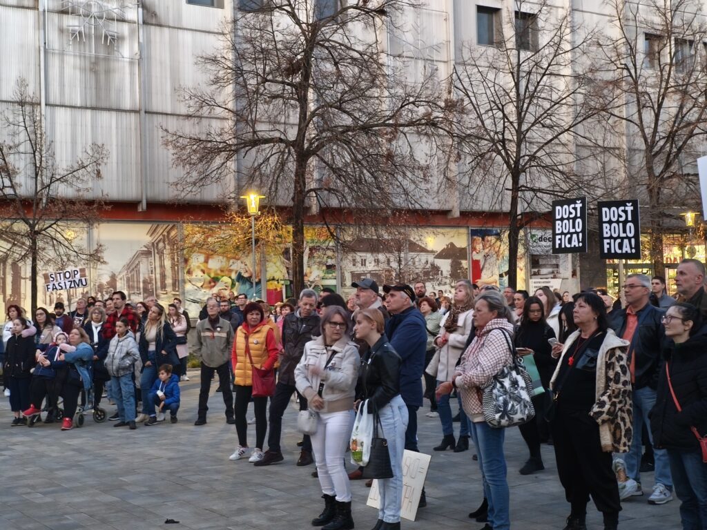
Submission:
<svg viewBox="0 0 707 530">
<path fill-rule="evenodd" d="M 662 232 L 678 208 L 699 205 L 696 150 L 707 120 L 707 25 L 695 0 L 609 1 L 612 25 L 599 41 L 612 75 L 607 114 L 626 134 L 626 176 L 647 204 L 655 274 L 664 274 Z M 701 145 L 700 145 L 701 144 Z M 647 221 L 647 223 L 646 223 Z"/>
</svg>

